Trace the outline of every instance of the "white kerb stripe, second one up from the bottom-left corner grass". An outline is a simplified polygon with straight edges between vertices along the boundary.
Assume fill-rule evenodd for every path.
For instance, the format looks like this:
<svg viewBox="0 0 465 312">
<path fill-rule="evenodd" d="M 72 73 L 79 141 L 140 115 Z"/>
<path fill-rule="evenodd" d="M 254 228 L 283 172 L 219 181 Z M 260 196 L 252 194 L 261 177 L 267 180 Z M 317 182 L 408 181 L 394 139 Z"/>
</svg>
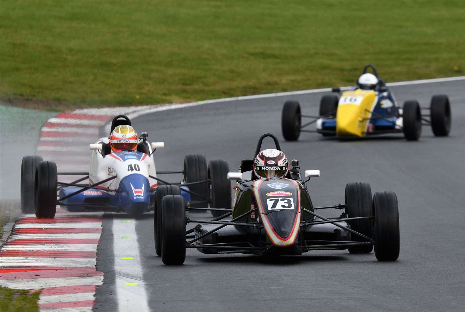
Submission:
<svg viewBox="0 0 465 312">
<path fill-rule="evenodd" d="M 95 258 L 0 257 L 0 266 L 95 266 Z"/>
</svg>

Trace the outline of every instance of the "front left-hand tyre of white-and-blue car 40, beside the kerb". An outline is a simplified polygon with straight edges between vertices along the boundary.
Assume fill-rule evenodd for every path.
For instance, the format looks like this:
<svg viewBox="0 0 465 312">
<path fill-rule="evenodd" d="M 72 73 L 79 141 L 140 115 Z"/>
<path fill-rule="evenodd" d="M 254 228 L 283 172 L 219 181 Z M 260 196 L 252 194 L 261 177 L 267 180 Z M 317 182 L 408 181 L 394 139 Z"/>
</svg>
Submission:
<svg viewBox="0 0 465 312">
<path fill-rule="evenodd" d="M 57 211 L 58 174 L 53 161 L 41 161 L 35 174 L 35 216 L 53 218 Z"/>
</svg>

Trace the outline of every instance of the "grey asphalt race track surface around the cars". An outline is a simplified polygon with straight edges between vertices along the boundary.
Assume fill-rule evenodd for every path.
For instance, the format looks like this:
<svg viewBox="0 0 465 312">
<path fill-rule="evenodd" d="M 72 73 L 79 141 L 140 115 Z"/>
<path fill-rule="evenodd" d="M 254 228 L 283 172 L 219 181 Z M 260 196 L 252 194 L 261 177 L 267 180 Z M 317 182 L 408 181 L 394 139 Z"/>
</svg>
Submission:
<svg viewBox="0 0 465 312">
<path fill-rule="evenodd" d="M 97 270 L 105 272 L 105 280 L 97 288 L 94 311 L 116 311 L 118 302 L 145 298 L 152 311 L 464 311 L 464 80 L 391 90 L 399 103 L 415 99 L 421 106 L 429 106 L 433 94 L 447 94 L 450 136 L 434 137 L 423 126 L 418 142 L 407 142 L 401 134 L 341 141 L 316 133 L 285 142 L 280 126 L 284 101 L 299 100 L 302 113 L 316 115 L 323 93 L 167 110 L 133 119 L 133 126 L 147 131 L 150 141 L 165 142 L 155 152 L 159 171 L 182 169 L 189 153 L 203 153 L 207 161 L 226 159 L 237 171 L 241 159 L 252 158 L 259 136 L 269 132 L 278 136 L 288 159 L 299 159 L 302 170 L 321 171 L 308 183 L 315 206 L 343 203 L 348 182 L 369 182 L 373 193 L 394 191 L 400 214 L 398 261 L 379 262 L 373 252 L 262 258 L 187 249 L 183 266 L 164 266 L 154 251 L 153 213 L 136 219 L 105 214 L 97 255 Z M 195 213 L 196 218 L 208 216 Z M 113 222 L 126 219 L 135 222 L 145 294 L 115 285 L 114 262 L 120 260 L 113 256 L 113 237 L 125 234 L 113 233 Z M 132 265 L 128 261 L 117 275 L 135 274 Z"/>
</svg>

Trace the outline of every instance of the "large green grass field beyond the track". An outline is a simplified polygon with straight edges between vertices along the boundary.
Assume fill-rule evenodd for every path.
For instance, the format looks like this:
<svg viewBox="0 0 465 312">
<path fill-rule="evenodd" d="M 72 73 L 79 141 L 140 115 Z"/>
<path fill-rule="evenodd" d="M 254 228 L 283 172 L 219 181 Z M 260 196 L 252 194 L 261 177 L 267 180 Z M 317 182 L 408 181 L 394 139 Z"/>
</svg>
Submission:
<svg viewBox="0 0 465 312">
<path fill-rule="evenodd" d="M 180 102 L 463 75 L 465 2 L 2 0 L 0 36 L 2 99 Z"/>
</svg>

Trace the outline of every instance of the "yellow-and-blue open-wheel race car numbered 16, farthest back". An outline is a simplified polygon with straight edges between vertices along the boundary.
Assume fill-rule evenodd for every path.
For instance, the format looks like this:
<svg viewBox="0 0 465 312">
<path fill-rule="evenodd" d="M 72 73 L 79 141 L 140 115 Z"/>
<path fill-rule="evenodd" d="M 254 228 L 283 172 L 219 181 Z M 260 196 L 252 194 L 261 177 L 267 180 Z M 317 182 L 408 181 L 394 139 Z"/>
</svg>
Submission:
<svg viewBox="0 0 465 312">
<path fill-rule="evenodd" d="M 373 73 L 367 73 L 371 68 Z M 451 107 L 447 95 L 431 98 L 429 107 L 420 107 L 416 100 L 404 102 L 401 108 L 373 65 L 365 66 L 357 86 L 341 93 L 324 95 L 319 116 L 301 113 L 298 101 L 286 101 L 281 114 L 284 139 L 295 141 L 301 132 L 320 133 L 338 138 L 364 137 L 384 133 L 404 133 L 407 140 L 418 140 L 421 126 L 432 127 L 435 136 L 447 136 L 451 128 Z M 423 114 L 422 111 L 428 113 Z M 302 118 L 312 119 L 302 124 Z M 316 124 L 316 130 L 307 126 Z"/>
</svg>

